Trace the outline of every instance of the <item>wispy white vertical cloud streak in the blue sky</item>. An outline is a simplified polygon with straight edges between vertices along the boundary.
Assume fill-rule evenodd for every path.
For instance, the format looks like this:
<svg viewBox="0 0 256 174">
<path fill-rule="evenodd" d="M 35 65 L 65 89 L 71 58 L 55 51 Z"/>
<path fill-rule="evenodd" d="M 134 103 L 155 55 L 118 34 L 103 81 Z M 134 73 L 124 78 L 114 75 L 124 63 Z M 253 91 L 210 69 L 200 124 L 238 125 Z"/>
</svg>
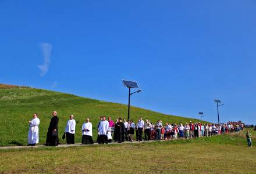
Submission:
<svg viewBox="0 0 256 174">
<path fill-rule="evenodd" d="M 49 66 L 51 65 L 51 52 L 52 52 L 52 45 L 49 43 L 42 43 L 40 44 L 40 48 L 42 50 L 42 54 L 44 56 L 44 64 L 39 65 L 38 68 L 40 69 L 41 77 L 44 77 L 47 74 Z"/>
</svg>

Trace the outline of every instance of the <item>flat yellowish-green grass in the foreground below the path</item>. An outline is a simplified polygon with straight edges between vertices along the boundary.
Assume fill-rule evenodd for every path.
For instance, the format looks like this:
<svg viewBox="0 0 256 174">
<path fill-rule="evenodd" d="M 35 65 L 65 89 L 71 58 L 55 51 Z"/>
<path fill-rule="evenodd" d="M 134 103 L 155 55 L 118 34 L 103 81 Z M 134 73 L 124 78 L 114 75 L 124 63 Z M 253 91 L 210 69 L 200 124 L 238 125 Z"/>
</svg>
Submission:
<svg viewBox="0 0 256 174">
<path fill-rule="evenodd" d="M 254 144 L 256 131 L 251 132 Z M 245 131 L 152 143 L 0 150 L 0 173 L 255 173 L 256 148 L 247 147 L 244 134 Z"/>
</svg>

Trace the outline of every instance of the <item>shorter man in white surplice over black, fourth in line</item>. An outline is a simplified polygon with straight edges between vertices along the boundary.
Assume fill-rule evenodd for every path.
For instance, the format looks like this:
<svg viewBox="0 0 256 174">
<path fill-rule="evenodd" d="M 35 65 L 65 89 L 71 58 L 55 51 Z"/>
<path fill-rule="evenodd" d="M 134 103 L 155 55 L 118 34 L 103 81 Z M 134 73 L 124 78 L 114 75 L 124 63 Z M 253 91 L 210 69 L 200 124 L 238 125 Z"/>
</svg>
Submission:
<svg viewBox="0 0 256 174">
<path fill-rule="evenodd" d="M 82 126 L 82 135 L 82 144 L 93 144 L 93 125 L 89 118 Z"/>
</svg>

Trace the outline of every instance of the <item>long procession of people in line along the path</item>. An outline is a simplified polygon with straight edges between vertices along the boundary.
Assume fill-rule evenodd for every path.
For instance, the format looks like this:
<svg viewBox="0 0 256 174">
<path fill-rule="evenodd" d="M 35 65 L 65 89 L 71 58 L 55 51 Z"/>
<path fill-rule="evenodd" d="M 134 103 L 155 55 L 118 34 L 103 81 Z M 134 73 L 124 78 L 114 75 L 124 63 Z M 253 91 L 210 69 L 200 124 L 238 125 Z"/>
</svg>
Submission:
<svg viewBox="0 0 256 174">
<path fill-rule="evenodd" d="M 49 124 L 47 132 L 46 146 L 58 146 L 58 122 L 59 118 L 57 112 L 52 112 L 52 119 Z M 74 115 L 70 115 L 70 119 L 67 121 L 65 127 L 65 133 L 62 139 L 66 138 L 67 144 L 74 144 L 74 134 L 76 132 L 76 121 L 74 120 Z M 29 146 L 35 146 L 38 143 L 38 125 L 40 120 L 37 118 L 37 114 L 33 115 L 33 119 L 29 121 L 29 134 L 28 142 Z M 125 141 L 134 141 L 134 134 L 136 133 L 136 140 L 138 142 L 150 141 L 150 140 L 169 140 L 169 139 L 190 139 L 202 136 L 215 136 L 225 133 L 239 132 L 243 130 L 244 124 L 239 122 L 227 122 L 226 124 L 202 124 L 201 122 L 192 121 L 186 122 L 184 125 L 182 123 L 165 123 L 163 124 L 161 120 L 158 120 L 155 124 L 146 119 L 140 117 L 136 123 L 131 119 L 126 121 L 126 119 L 116 119 L 112 121 L 111 117 L 106 120 L 105 116 L 99 118 L 97 124 L 97 140 L 99 144 L 107 144 L 112 141 L 122 143 Z M 86 122 L 81 127 L 82 144 L 93 144 L 93 124 L 91 124 L 90 119 L 87 118 Z M 143 137 L 144 135 L 144 137 Z M 251 145 L 250 145 L 251 146 Z"/>
</svg>

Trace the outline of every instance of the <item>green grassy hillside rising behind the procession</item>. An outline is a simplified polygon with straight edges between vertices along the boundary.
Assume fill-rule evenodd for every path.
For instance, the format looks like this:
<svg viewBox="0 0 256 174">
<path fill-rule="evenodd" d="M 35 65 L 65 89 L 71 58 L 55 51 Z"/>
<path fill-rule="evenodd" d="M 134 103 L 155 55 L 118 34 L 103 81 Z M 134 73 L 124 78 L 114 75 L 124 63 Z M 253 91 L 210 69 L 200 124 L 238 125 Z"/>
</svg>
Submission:
<svg viewBox="0 0 256 174">
<path fill-rule="evenodd" d="M 103 102 L 84 97 L 69 95 L 66 93 L 53 92 L 49 90 L 34 89 L 0 84 L 0 146 L 27 145 L 27 121 L 32 118 L 33 113 L 40 118 L 40 144 L 45 143 L 49 121 L 52 111 L 58 111 L 59 136 L 62 136 L 66 121 L 70 114 L 76 119 L 76 143 L 81 142 L 81 125 L 86 118 L 93 123 L 94 140 L 97 136 L 95 126 L 99 116 L 111 116 L 113 120 L 127 116 L 127 106 L 124 104 Z M 188 122 L 199 121 L 193 118 L 165 115 L 138 107 L 131 107 L 131 119 L 136 121 L 142 116 L 152 122 L 161 119 L 163 122 Z M 64 143 L 61 140 L 61 143 Z"/>
</svg>

